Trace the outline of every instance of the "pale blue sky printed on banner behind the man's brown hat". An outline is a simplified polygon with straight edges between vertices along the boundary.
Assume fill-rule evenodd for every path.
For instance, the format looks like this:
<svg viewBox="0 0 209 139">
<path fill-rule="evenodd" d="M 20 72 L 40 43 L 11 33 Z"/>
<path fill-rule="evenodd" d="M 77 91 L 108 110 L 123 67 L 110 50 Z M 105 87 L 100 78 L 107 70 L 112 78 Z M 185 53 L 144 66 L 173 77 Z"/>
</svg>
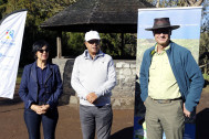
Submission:
<svg viewBox="0 0 209 139">
<path fill-rule="evenodd" d="M 165 8 L 138 10 L 138 39 L 153 39 L 151 28 L 155 18 L 169 18 L 171 25 L 180 25 L 173 31 L 171 39 L 199 39 L 201 24 L 201 8 Z"/>
</svg>

